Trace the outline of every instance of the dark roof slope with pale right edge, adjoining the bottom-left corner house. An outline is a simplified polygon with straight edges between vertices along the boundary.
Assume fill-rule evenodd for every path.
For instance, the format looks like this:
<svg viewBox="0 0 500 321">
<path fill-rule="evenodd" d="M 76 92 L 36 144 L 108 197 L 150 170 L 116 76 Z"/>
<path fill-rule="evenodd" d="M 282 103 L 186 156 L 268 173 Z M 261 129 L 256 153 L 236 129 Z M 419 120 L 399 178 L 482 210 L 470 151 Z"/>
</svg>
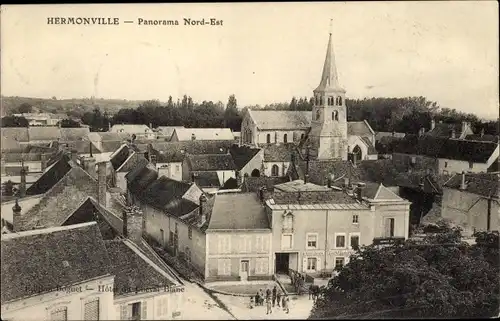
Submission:
<svg viewBox="0 0 500 321">
<path fill-rule="evenodd" d="M 128 240 L 104 241 L 110 258 L 110 270 L 115 276 L 115 295 L 128 294 L 172 286 L 168 275 Z"/>
</svg>

